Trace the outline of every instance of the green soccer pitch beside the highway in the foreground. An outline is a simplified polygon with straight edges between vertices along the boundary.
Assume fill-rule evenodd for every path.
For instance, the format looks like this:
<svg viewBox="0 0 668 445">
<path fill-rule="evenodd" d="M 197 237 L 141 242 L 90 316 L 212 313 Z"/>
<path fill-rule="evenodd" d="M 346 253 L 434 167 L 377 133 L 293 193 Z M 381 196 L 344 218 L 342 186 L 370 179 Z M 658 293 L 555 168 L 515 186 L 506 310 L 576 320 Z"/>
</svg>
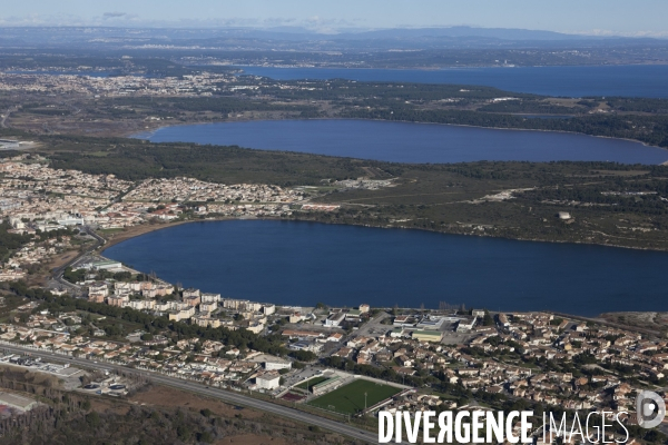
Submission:
<svg viewBox="0 0 668 445">
<path fill-rule="evenodd" d="M 366 393 L 366 407 L 370 407 L 400 392 L 401 389 L 394 386 L 360 378 L 308 402 L 308 405 L 336 413 L 355 414 L 364 409 L 364 393 Z"/>
</svg>

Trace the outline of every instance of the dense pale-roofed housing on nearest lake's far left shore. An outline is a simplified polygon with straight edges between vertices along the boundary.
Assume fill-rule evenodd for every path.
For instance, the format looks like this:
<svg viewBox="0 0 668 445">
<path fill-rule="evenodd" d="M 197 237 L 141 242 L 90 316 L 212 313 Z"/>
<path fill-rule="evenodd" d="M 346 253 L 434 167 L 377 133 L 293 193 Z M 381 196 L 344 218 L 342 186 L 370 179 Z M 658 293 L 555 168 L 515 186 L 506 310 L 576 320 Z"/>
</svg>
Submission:
<svg viewBox="0 0 668 445">
<path fill-rule="evenodd" d="M 304 191 L 272 185 L 223 185 L 193 178 L 147 179 L 138 184 L 114 175 L 58 170 L 39 156 L 0 162 L 0 211 L 20 234 L 88 225 L 118 229 L 183 216 L 183 202 L 196 217 L 282 217 Z M 307 210 L 306 208 L 305 210 Z"/>
</svg>

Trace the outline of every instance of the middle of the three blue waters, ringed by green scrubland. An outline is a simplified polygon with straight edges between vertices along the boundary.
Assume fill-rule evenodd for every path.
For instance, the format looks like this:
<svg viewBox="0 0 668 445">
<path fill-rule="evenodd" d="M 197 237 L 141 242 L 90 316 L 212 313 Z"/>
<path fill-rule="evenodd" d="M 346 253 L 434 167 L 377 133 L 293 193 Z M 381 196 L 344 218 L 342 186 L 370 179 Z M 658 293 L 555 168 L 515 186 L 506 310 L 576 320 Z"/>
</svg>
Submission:
<svg viewBox="0 0 668 445">
<path fill-rule="evenodd" d="M 166 127 L 154 142 L 238 145 L 392 162 L 609 160 L 661 164 L 668 150 L 640 142 L 547 131 L 373 120 L 267 120 Z"/>
</svg>

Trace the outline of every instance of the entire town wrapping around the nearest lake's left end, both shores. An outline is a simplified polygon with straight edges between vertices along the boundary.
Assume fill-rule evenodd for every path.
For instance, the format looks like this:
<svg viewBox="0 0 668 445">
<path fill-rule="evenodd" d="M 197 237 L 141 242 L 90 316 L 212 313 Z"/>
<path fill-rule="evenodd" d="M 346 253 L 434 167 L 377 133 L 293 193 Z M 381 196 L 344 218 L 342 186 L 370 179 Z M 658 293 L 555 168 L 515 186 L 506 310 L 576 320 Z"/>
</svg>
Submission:
<svg viewBox="0 0 668 445">
<path fill-rule="evenodd" d="M 10 314 L 0 325 L 6 345 L 265 393 L 277 403 L 347 416 L 524 400 L 626 413 L 633 425 L 635 395 L 666 386 L 668 343 L 657 335 L 549 313 L 285 307 L 183 288 L 85 249 L 92 235 L 141 225 L 325 210 L 307 204 L 299 188 L 191 178 L 132 182 L 53 169 L 29 155 L 4 159 L 0 172 L 7 234 L 24 237 L 0 274 L 3 289 L 18 295 L 2 299 Z M 375 182 L 342 184 L 360 186 Z M 38 283 L 40 264 L 68 251 L 80 254 L 60 281 L 38 284 L 38 298 L 26 290 L 21 283 Z M 3 362 L 20 357 L 9 354 Z M 327 402 L 367 384 L 382 390 L 364 406 Z"/>
</svg>

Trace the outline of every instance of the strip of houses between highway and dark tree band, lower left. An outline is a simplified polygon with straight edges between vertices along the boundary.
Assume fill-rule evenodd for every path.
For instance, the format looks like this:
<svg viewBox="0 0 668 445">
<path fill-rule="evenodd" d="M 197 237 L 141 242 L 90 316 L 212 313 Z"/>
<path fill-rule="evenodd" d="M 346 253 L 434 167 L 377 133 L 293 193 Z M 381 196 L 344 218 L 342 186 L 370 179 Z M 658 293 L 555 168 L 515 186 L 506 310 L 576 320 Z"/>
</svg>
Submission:
<svg viewBox="0 0 668 445">
<path fill-rule="evenodd" d="M 66 325 L 67 320 L 76 324 Z M 292 368 L 292 363 L 281 357 L 255 350 L 242 354 L 237 348 L 215 340 L 190 338 L 174 344 L 159 335 L 141 339 L 145 333 L 137 332 L 128 336 L 128 343 L 120 343 L 71 334 L 80 327 L 80 322 L 77 313 L 60 314 L 58 317 L 31 315 L 26 324 L 20 324 L 18 319 L 0 324 L 0 342 L 107 360 L 214 386 L 243 385 L 250 389 L 272 390 L 279 386 L 279 372 Z"/>
</svg>

